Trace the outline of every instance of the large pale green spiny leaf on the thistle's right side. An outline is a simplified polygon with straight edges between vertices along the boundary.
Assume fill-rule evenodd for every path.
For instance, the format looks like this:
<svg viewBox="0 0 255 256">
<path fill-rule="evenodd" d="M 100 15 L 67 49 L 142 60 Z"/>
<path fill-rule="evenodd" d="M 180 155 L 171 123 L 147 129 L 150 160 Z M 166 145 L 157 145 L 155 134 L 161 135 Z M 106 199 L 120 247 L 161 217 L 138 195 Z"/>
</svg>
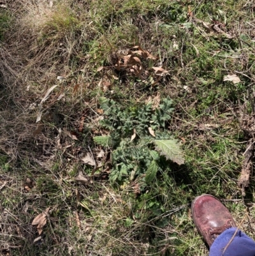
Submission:
<svg viewBox="0 0 255 256">
<path fill-rule="evenodd" d="M 156 150 L 166 159 L 182 165 L 184 163 L 184 154 L 176 140 L 154 140 Z"/>
</svg>

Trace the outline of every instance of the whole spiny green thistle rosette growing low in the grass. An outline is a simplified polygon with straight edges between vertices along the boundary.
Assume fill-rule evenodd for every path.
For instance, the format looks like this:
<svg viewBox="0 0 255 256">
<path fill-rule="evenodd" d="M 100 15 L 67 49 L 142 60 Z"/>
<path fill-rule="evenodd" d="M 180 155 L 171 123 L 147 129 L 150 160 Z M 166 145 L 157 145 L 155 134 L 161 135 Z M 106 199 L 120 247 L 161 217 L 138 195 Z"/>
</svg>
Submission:
<svg viewBox="0 0 255 256">
<path fill-rule="evenodd" d="M 111 149 L 110 181 L 132 180 L 145 174 L 146 183 L 150 183 L 160 169 L 161 158 L 179 165 L 184 163 L 179 142 L 171 138 L 165 129 L 166 121 L 171 119 L 173 112 L 170 98 L 165 98 L 154 110 L 151 103 L 124 107 L 102 97 L 100 108 L 104 114 L 100 124 L 109 131 L 109 135 L 96 136 L 94 142 Z M 155 132 L 155 137 L 149 128 Z"/>
</svg>

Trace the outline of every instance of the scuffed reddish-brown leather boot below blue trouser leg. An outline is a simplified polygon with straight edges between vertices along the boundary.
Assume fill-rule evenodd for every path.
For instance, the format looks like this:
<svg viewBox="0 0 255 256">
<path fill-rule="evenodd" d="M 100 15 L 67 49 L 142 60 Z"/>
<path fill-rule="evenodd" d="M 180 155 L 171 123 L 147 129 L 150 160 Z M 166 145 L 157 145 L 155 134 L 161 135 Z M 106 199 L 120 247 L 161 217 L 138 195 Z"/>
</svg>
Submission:
<svg viewBox="0 0 255 256">
<path fill-rule="evenodd" d="M 224 230 L 237 227 L 230 211 L 212 195 L 196 197 L 192 202 L 191 212 L 196 228 L 208 246 Z"/>
</svg>

